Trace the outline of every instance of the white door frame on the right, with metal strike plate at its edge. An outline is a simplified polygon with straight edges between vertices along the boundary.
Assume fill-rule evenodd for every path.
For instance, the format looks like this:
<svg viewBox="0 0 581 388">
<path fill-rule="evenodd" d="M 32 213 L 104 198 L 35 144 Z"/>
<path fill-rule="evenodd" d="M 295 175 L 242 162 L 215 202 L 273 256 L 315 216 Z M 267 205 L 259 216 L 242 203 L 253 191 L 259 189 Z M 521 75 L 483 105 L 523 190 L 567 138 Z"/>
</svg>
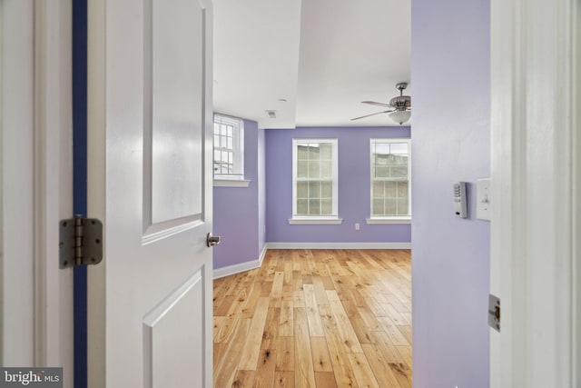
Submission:
<svg viewBox="0 0 581 388">
<path fill-rule="evenodd" d="M 580 7 L 491 1 L 494 387 L 581 383 Z"/>
</svg>

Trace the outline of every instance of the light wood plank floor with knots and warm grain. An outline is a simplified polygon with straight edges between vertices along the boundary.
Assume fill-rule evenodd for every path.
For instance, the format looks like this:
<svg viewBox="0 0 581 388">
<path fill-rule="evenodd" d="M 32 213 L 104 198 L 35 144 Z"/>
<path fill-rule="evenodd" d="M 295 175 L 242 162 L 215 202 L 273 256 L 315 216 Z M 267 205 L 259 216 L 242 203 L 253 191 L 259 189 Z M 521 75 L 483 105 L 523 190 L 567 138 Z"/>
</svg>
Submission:
<svg viewBox="0 0 581 388">
<path fill-rule="evenodd" d="M 269 250 L 214 281 L 214 387 L 411 387 L 408 250 Z"/>
</svg>

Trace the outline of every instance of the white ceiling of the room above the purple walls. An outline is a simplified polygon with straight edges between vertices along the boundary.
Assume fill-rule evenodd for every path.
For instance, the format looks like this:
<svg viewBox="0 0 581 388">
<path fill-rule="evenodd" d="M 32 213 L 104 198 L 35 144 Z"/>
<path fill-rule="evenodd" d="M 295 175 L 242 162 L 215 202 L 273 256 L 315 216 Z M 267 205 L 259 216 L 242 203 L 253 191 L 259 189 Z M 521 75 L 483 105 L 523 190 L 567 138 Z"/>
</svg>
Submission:
<svg viewBox="0 0 581 388">
<path fill-rule="evenodd" d="M 350 119 L 409 82 L 409 0 L 214 0 L 213 21 L 215 112 L 262 128 L 394 125 Z"/>
</svg>

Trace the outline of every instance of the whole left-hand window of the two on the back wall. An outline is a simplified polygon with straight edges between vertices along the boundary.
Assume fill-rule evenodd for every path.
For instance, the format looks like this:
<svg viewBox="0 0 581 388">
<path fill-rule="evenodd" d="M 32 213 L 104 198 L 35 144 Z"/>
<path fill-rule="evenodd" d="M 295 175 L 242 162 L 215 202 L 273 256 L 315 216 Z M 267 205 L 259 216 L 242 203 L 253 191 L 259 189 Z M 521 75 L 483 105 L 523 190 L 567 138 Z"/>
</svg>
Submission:
<svg viewBox="0 0 581 388">
<path fill-rule="evenodd" d="M 293 139 L 290 224 L 340 224 L 337 139 Z"/>
</svg>

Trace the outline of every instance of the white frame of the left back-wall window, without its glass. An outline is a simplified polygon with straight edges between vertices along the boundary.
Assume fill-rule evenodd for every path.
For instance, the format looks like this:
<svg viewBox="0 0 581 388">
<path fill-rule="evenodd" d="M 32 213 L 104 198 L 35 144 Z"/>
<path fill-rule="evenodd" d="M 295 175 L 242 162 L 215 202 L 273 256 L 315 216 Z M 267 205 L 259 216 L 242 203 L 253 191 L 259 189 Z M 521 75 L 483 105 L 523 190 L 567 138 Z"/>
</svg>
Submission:
<svg viewBox="0 0 581 388">
<path fill-rule="evenodd" d="M 331 144 L 331 214 L 299 215 L 297 214 L 298 149 L 300 144 Z M 292 217 L 289 224 L 341 224 L 339 218 L 339 139 L 337 138 L 293 138 L 292 139 Z"/>
</svg>

